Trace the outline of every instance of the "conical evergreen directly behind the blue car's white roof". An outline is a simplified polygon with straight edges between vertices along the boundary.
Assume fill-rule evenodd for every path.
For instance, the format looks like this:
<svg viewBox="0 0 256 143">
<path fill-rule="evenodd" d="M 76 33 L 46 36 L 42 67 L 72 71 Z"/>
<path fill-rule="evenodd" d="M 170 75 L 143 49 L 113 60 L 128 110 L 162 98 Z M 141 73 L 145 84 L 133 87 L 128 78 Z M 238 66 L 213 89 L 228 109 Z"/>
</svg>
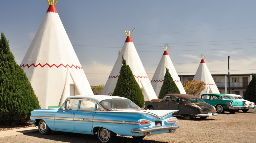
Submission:
<svg viewBox="0 0 256 143">
<path fill-rule="evenodd" d="M 134 78 L 129 65 L 126 64 L 126 60 L 124 60 L 124 58 L 122 60 L 122 64 L 117 84 L 112 95 L 128 98 L 139 107 L 143 107 L 145 101 L 139 84 Z"/>
</svg>

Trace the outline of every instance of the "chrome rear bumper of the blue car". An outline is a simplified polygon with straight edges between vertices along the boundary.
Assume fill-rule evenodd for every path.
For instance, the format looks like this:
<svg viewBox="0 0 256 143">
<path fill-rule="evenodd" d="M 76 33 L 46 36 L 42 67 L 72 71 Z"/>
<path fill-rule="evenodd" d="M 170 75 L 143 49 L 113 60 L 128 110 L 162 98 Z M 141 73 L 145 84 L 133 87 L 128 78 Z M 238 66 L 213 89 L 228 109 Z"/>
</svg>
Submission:
<svg viewBox="0 0 256 143">
<path fill-rule="evenodd" d="M 169 132 L 175 132 L 180 126 L 177 124 L 174 125 L 166 125 L 166 126 L 155 126 L 155 127 L 146 127 L 146 128 L 138 128 L 132 129 L 132 133 L 144 133 L 144 135 L 150 135 L 150 132 L 154 131 L 163 131 L 169 130 Z"/>
</svg>

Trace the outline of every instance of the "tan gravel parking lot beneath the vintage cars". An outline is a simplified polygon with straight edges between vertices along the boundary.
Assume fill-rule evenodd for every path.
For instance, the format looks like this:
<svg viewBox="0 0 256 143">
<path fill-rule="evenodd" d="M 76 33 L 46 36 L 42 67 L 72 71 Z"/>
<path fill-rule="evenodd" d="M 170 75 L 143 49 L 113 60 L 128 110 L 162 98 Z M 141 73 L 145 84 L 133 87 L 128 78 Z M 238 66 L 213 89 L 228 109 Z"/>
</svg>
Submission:
<svg viewBox="0 0 256 143">
<path fill-rule="evenodd" d="M 174 133 L 146 136 L 143 140 L 134 140 L 130 136 L 117 135 L 115 142 L 119 143 L 252 143 L 256 142 L 255 110 L 236 112 L 235 114 L 219 114 L 206 119 L 192 118 L 184 120 L 178 117 L 180 128 Z M 1 132 L 0 132 L 1 134 Z M 52 131 L 51 135 L 41 135 L 38 132 L 13 135 L 0 138 L 1 143 L 98 143 L 94 135 L 83 135 Z"/>
</svg>

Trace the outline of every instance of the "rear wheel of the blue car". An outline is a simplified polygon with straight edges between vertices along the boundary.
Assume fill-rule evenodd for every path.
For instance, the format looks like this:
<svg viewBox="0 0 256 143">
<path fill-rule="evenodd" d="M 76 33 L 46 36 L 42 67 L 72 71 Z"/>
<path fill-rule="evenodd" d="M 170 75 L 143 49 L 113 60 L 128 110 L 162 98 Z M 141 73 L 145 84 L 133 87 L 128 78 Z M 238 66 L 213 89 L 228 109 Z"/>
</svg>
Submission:
<svg viewBox="0 0 256 143">
<path fill-rule="evenodd" d="M 117 134 L 108 129 L 100 127 L 97 136 L 101 143 L 109 143 L 112 142 L 112 140 L 117 136 Z"/>
</svg>

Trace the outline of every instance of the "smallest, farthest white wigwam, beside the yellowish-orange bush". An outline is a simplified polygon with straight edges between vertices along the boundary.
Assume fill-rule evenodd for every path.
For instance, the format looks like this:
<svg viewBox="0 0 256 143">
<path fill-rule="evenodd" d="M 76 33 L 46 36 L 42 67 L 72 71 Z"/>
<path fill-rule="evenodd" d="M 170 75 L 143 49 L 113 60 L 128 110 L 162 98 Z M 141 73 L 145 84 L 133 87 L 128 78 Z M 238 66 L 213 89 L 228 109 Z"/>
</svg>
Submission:
<svg viewBox="0 0 256 143">
<path fill-rule="evenodd" d="M 203 81 L 204 82 L 204 90 L 202 91 L 201 94 L 204 93 L 220 93 L 218 87 L 216 86 L 212 75 L 207 68 L 205 62 L 204 62 L 204 57 L 205 56 L 200 56 L 201 57 L 201 62 L 199 64 L 199 67 L 197 69 L 197 72 L 193 78 L 193 80 L 196 81 Z"/>
</svg>

